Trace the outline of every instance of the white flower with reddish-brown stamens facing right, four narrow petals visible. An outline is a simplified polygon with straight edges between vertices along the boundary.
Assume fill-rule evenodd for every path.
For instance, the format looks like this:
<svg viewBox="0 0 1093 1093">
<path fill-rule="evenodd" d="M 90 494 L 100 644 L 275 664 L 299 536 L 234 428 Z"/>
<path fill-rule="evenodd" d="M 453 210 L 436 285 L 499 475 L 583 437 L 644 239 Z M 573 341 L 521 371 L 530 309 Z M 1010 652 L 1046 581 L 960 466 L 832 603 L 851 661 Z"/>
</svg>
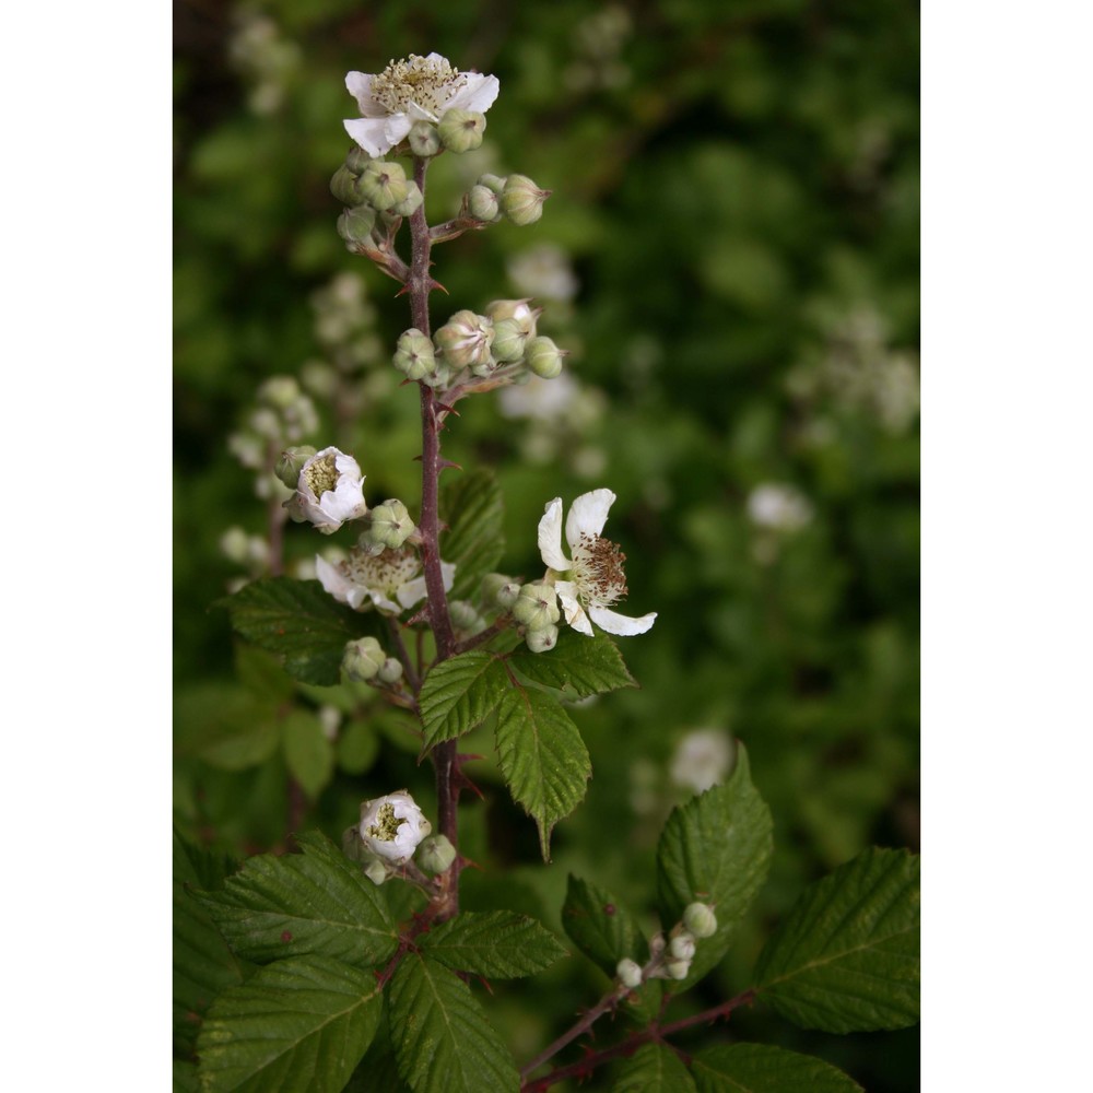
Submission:
<svg viewBox="0 0 1093 1093">
<path fill-rule="evenodd" d="M 546 506 L 539 521 L 539 551 L 543 562 L 559 574 L 569 574 L 568 580 L 554 583 L 565 621 L 589 637 L 592 636 L 589 618 L 609 634 L 620 635 L 644 634 L 657 618 L 655 611 L 640 619 L 631 619 L 610 610 L 612 603 L 626 595 L 626 577 L 622 572 L 626 555 L 620 553 L 615 543 L 600 536 L 614 500 L 610 490 L 593 490 L 583 493 L 569 506 L 565 540 L 573 554 L 572 562 L 562 553 L 561 497 Z"/>
</svg>

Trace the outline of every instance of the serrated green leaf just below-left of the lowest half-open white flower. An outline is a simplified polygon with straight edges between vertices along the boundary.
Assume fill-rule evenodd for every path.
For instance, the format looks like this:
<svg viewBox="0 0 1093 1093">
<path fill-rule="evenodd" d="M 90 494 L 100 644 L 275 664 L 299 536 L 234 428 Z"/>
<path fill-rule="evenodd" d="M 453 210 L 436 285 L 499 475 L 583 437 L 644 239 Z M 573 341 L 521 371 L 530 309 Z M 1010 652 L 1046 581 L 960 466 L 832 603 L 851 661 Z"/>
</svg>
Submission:
<svg viewBox="0 0 1093 1093">
<path fill-rule="evenodd" d="M 232 949 L 259 964 L 318 953 L 369 967 L 398 949 L 380 890 L 325 835 L 298 835 L 303 854 L 249 858 L 223 892 L 202 893 Z"/>
</svg>

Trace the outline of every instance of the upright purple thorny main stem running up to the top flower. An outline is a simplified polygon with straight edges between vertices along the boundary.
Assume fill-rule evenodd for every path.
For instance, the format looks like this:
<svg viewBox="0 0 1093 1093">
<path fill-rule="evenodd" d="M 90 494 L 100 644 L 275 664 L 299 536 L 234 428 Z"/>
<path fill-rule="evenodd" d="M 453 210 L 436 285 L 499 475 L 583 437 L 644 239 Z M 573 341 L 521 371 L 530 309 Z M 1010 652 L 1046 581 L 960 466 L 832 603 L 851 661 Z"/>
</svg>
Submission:
<svg viewBox="0 0 1093 1093">
<path fill-rule="evenodd" d="M 428 161 L 415 156 L 413 177 L 425 196 L 425 172 Z M 426 338 L 432 331 L 428 322 L 428 294 L 433 289 L 430 277 L 428 222 L 425 219 L 425 202 L 418 207 L 410 218 L 411 260 L 407 289 L 410 293 L 410 314 L 413 325 Z M 448 614 L 448 597 L 444 590 L 444 575 L 440 572 L 439 517 L 437 515 L 437 491 L 440 478 L 440 420 L 436 398 L 427 384 L 421 388 L 421 533 L 422 565 L 425 571 L 425 589 L 428 595 L 428 616 L 436 638 L 437 661 L 447 660 L 455 653 L 455 634 Z M 458 846 L 456 806 L 459 801 L 459 761 L 456 741 L 437 744 L 432 753 L 436 769 L 437 820 L 442 835 L 447 836 L 453 846 Z M 459 910 L 459 858 L 442 877 L 442 898 L 438 918 L 450 918 Z"/>
</svg>

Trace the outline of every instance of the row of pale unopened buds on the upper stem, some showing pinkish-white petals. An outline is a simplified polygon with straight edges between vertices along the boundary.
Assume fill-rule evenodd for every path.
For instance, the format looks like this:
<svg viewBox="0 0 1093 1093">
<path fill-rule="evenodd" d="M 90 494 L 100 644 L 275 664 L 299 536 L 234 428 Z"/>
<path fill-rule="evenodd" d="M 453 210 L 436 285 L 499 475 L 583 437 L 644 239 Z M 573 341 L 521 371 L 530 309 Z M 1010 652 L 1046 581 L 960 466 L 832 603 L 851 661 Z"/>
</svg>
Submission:
<svg viewBox="0 0 1093 1093">
<path fill-rule="evenodd" d="M 491 386 L 520 383 L 531 376 L 554 379 L 565 352 L 537 330 L 542 308 L 527 299 L 495 299 L 485 315 L 456 312 L 430 340 L 418 329 L 403 331 L 395 367 L 407 379 L 442 390 L 469 376 Z M 471 380 L 473 383 L 473 380 Z"/>
</svg>

